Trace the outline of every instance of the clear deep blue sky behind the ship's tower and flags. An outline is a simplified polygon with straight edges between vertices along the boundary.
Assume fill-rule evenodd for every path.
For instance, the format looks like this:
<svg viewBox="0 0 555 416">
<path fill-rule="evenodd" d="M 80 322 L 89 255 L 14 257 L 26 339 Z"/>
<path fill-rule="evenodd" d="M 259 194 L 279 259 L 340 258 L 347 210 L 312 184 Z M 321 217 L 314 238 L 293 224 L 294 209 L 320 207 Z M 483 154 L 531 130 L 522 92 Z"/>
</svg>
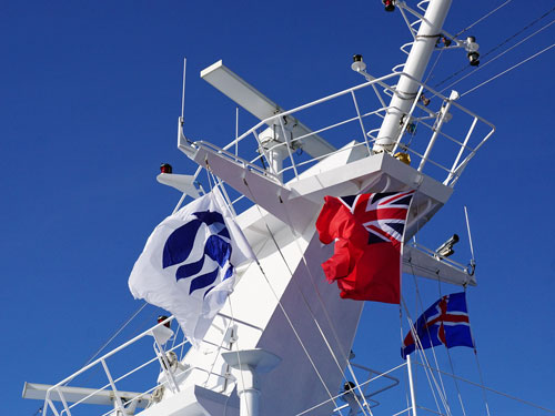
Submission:
<svg viewBox="0 0 555 416">
<path fill-rule="evenodd" d="M 445 29 L 456 33 L 501 3 L 455 0 Z M 198 77 L 201 69 L 223 59 L 292 108 L 361 82 L 350 70 L 353 53 L 364 54 L 372 74 L 386 74 L 404 60 L 397 48 L 408 33 L 400 13 L 385 13 L 379 0 L 1 4 L 0 397 L 4 414 L 32 416 L 41 404 L 20 398 L 23 382 L 64 378 L 140 305 L 129 293 L 129 272 L 179 199 L 155 182 L 159 164 L 194 170 L 175 146 L 183 57 L 186 133 L 224 144 L 234 135 L 235 106 Z M 514 0 L 468 33 L 486 52 L 553 6 Z M 553 19 L 555 13 L 488 58 Z M 458 91 L 554 39 L 555 24 L 467 78 Z M 430 83 L 465 62 L 463 51 L 450 52 Z M 468 206 L 478 280 L 468 303 L 485 383 L 551 408 L 554 64 L 555 49 L 464 97 L 461 104 L 497 132 L 421 237 L 435 247 L 453 232 L 465 235 Z M 470 258 L 465 244 L 457 253 L 463 263 Z M 437 285 L 423 282 L 421 290 L 427 307 Z M 450 291 L 457 288 L 442 286 Z M 157 314 L 144 311 L 114 345 Z M 366 305 L 357 361 L 382 369 L 400 363 L 398 333 L 396 308 Z M 455 348 L 452 358 L 463 373 L 472 366 L 465 376 L 477 381 L 471 351 Z M 495 406 L 493 413 L 503 415 L 544 414 L 509 402 Z"/>
</svg>

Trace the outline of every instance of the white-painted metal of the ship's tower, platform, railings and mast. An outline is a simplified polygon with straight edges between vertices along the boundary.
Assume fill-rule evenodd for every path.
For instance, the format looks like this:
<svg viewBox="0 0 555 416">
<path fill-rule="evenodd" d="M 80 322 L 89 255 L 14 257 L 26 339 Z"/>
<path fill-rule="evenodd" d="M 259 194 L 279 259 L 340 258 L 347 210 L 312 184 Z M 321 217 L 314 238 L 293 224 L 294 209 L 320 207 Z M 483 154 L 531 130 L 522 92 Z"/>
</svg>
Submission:
<svg viewBox="0 0 555 416">
<path fill-rule="evenodd" d="M 404 3 L 397 2 L 397 4 L 402 7 Z M 404 72 L 381 79 L 363 73 L 367 75 L 367 83 L 290 111 L 284 111 L 265 98 L 225 68 L 222 61 L 201 72 L 204 80 L 261 120 L 241 136 L 235 133 L 235 140 L 224 149 L 220 149 L 210 143 L 188 140 L 182 131 L 183 112 L 179 119 L 179 149 L 201 168 L 210 170 L 254 203 L 236 220 L 256 253 L 258 262 L 238 268 L 234 292 L 214 318 L 201 347 L 191 348 L 179 368 L 172 369 L 168 362 L 167 352 L 161 345 L 164 339 L 157 336 L 157 328 L 160 328 L 160 325 L 140 336 L 154 336 L 158 356 L 153 361 L 160 359 L 162 369 L 159 377 L 160 385 L 157 387 L 158 393 L 162 392 L 162 398 L 154 400 L 152 399 L 154 395 L 143 396 L 152 399 L 151 406 L 143 410 L 143 416 L 239 416 L 238 393 L 244 399 L 246 405 L 244 407 L 248 409 L 242 409 L 241 416 L 294 415 L 309 408 L 316 409 L 311 415 L 323 416 L 339 408 L 335 403 L 339 397 L 337 387 L 345 378 L 344 369 L 351 355 L 363 303 L 341 300 L 336 287 L 327 284 L 323 276 L 321 263 L 333 252 L 332 245 L 322 246 L 314 227 L 323 196 L 416 190 L 405 231 L 408 239 L 450 199 L 453 182 L 458 179 L 476 150 L 493 133 L 492 126 L 492 131 L 478 141 L 477 145 L 471 148 L 468 143 L 476 120 L 488 123 L 461 108 L 453 100 L 446 100 L 440 93 L 426 88 L 436 93 L 438 99 L 446 101 L 447 105 L 453 105 L 474 118 L 464 143 L 457 142 L 461 148 L 453 166 L 450 169 L 440 165 L 447 173 L 445 183 L 441 182 L 443 177 L 438 181 L 427 176 L 423 169 L 425 162 L 433 162 L 430 155 L 435 141 L 446 136 L 440 132 L 446 112 L 442 114 L 440 123 L 431 128 L 432 138 L 425 153 L 423 155 L 412 153 L 420 158 L 420 171 L 382 152 L 398 145 L 396 140 L 401 135 L 401 118 L 407 111 L 412 112 L 416 106 L 414 99 L 417 91 L 424 89 L 420 80 L 450 4 L 451 0 L 430 2 L 404 65 Z M 387 84 L 395 79 L 398 79 L 395 87 Z M 393 94 L 390 108 L 383 108 L 385 105 L 377 87 Z M 371 90 L 375 92 L 382 108 L 365 112 L 360 106 L 364 100 L 357 100 L 355 94 L 365 91 L 372 93 Z M 354 109 L 352 116 L 345 120 L 334 121 L 333 124 L 312 132 L 294 115 L 304 109 L 347 94 L 352 97 Z M 183 103 L 184 99 L 182 105 Z M 370 155 L 369 138 L 375 139 L 372 135 L 375 131 L 371 131 L 372 134 L 365 133 L 365 119 L 383 116 L 384 111 L 386 111 L 385 119 L 374 143 L 374 151 L 382 153 Z M 408 121 L 405 120 L 405 125 Z M 319 135 L 349 123 L 355 124 L 356 134 L 361 134 L 362 131 L 363 141 L 357 143 L 352 138 L 345 138 L 346 144 L 336 150 Z M 269 126 L 268 134 L 262 133 L 259 136 L 256 131 L 264 124 Z M 239 144 L 246 139 L 251 141 L 254 139 L 252 143 L 258 146 L 254 149 L 260 152 L 254 160 L 242 159 L 239 155 Z M 242 146 L 244 149 L 243 144 Z M 309 161 L 295 161 L 294 150 L 299 146 L 313 158 Z M 468 150 L 470 155 L 461 161 L 464 150 Z M 406 151 L 412 150 L 406 149 Z M 270 163 L 271 169 L 261 168 L 262 158 Z M 289 176 L 285 176 L 285 173 Z M 193 186 L 196 175 L 181 176 L 161 174 L 159 180 L 181 192 L 190 193 L 190 186 Z M 287 182 L 284 176 L 293 179 Z M 423 274 L 435 274 L 435 278 L 458 284 L 474 282 L 463 266 L 458 267 L 445 258 L 420 252 L 416 247 L 408 248 L 405 254 L 405 265 L 408 264 L 411 270 L 420 268 Z M 49 408 L 59 415 L 52 400 L 65 399 L 62 413 L 70 414 L 71 406 L 68 406 L 67 402 L 72 392 L 64 390 L 63 384 L 85 369 L 101 364 L 112 390 L 102 389 L 99 393 L 95 390 L 84 398 L 81 397 L 80 400 L 85 403 L 97 396 L 105 399 L 108 394 L 123 413 L 124 405 L 128 405 L 129 400 L 123 392 L 117 390 L 115 386 L 123 377 L 112 378 L 105 358 L 138 339 L 139 337 L 135 337 L 58 385 L 49 387 L 46 393 Z M 244 354 L 259 351 L 256 348 L 271 351 L 283 357 L 282 363 L 269 374 L 259 374 L 255 358 Z M 239 376 L 230 374 L 230 367 L 233 366 L 242 374 Z M 410 357 L 407 368 L 413 414 L 416 415 Z M 293 374 L 294 384 L 290 383 Z M 278 390 L 282 394 L 272 394 Z M 262 402 L 258 399 L 260 392 L 268 392 Z M 284 394 L 286 399 L 283 398 Z M 132 396 L 131 399 L 141 407 L 142 398 L 138 397 L 140 396 Z M 354 403 L 352 405 L 354 406 Z"/>
</svg>

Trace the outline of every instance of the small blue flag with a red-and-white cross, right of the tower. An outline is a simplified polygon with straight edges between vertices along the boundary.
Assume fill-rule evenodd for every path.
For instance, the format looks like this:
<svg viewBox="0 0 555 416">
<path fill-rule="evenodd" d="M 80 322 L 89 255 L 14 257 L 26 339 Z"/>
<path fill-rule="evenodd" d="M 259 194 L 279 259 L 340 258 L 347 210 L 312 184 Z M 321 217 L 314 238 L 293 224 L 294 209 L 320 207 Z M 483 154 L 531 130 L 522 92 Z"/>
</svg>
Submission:
<svg viewBox="0 0 555 416">
<path fill-rule="evenodd" d="M 414 331 L 423 349 L 441 344 L 447 348 L 454 346 L 474 348 L 465 293 L 452 293 L 443 296 L 418 317 Z M 408 354 L 420 347 L 414 342 L 413 333 L 410 331 L 403 341 L 401 356 L 406 358 Z"/>
</svg>

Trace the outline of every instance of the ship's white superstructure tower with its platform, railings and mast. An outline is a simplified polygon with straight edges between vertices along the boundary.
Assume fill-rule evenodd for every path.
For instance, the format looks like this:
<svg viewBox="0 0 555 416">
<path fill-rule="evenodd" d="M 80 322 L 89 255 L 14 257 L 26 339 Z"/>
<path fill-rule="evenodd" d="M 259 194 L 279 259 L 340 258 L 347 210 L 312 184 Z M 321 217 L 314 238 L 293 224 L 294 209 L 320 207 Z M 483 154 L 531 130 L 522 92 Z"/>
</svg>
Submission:
<svg viewBox="0 0 555 416">
<path fill-rule="evenodd" d="M 205 171 L 258 261 L 238 271 L 234 292 L 200 348 L 183 353 L 186 339 L 178 341 L 165 326 L 169 318 L 54 386 L 26 385 L 24 396 L 46 397 L 44 414 L 56 415 L 78 414 L 81 404 L 144 416 L 371 414 L 371 397 L 400 381 L 361 366 L 369 379 L 377 376 L 385 385 L 369 390 L 366 381 L 356 379 L 351 348 L 363 303 L 340 298 L 326 283 L 321 264 L 333 246 L 320 242 L 314 223 L 325 195 L 414 190 L 403 267 L 455 285 L 476 284 L 473 267 L 411 242 L 447 203 L 494 132 L 458 103 L 456 91 L 445 97 L 422 83 L 432 51 L 447 48 L 441 39 L 452 40 L 448 48 L 475 52 L 473 39 L 457 41 L 443 31 L 450 4 L 424 1 L 415 11 L 397 1 L 414 38 L 404 45 L 406 63 L 374 78 L 355 55 L 352 69 L 364 83 L 296 109 L 282 109 L 222 61 L 203 70 L 202 79 L 260 123 L 219 148 L 186 138 L 182 115 L 178 146 L 199 170 L 192 176 L 164 172 L 159 181 L 196 196 L 202 190 L 195 181 Z M 153 344 L 152 359 L 111 366 L 145 342 Z M 154 385 L 128 387 L 147 367 L 159 371 Z M 101 388 L 68 386 L 92 368 L 107 376 Z M 341 393 L 345 379 L 354 383 Z"/>
</svg>

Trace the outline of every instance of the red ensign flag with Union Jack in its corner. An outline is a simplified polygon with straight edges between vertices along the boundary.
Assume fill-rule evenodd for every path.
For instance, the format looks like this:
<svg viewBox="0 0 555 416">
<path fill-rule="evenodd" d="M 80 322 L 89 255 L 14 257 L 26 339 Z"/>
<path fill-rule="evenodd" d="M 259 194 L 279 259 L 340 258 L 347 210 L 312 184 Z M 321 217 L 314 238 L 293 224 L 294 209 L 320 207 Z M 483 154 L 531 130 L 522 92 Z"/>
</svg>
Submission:
<svg viewBox="0 0 555 416">
<path fill-rule="evenodd" d="M 322 263 L 340 296 L 398 304 L 401 251 L 414 191 L 353 196 L 325 196 L 316 220 L 320 241 L 335 241 L 334 254 Z"/>
</svg>

